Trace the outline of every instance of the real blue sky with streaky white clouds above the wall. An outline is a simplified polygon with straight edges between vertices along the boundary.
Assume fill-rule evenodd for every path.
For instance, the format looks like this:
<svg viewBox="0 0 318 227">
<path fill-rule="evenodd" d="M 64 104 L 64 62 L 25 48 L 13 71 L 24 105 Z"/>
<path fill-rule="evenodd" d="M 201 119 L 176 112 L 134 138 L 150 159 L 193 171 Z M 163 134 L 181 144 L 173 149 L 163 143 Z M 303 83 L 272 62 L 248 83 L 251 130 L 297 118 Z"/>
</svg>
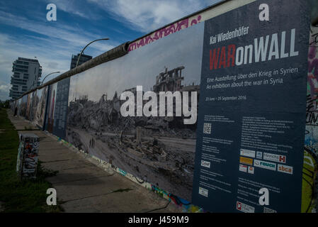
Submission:
<svg viewBox="0 0 318 227">
<path fill-rule="evenodd" d="M 8 99 L 12 62 L 37 59 L 42 78 L 69 70 L 72 54 L 91 40 L 85 54 L 96 57 L 121 43 L 215 4 L 220 0 L 4 0 L 0 1 L 0 100 Z M 47 21 L 47 4 L 57 21 Z M 51 75 L 52 79 L 58 74 Z"/>
</svg>

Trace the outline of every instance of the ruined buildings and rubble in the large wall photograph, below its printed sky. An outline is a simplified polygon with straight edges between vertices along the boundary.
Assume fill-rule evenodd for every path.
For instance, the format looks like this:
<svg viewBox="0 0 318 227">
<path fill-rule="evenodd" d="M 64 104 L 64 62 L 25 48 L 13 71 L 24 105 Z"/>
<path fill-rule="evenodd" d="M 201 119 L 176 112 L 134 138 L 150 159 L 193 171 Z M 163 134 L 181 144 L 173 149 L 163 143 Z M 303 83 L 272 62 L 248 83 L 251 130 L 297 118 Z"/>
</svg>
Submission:
<svg viewBox="0 0 318 227">
<path fill-rule="evenodd" d="M 199 92 L 200 85 L 181 84 L 184 69 L 165 68 L 157 75 L 153 92 Z M 136 95 L 135 88 L 125 91 Z M 117 92 L 111 99 L 105 92 L 98 101 L 88 95 L 69 101 L 69 143 L 190 201 L 196 124 L 183 124 L 183 116 L 123 117 L 123 102 Z"/>
</svg>

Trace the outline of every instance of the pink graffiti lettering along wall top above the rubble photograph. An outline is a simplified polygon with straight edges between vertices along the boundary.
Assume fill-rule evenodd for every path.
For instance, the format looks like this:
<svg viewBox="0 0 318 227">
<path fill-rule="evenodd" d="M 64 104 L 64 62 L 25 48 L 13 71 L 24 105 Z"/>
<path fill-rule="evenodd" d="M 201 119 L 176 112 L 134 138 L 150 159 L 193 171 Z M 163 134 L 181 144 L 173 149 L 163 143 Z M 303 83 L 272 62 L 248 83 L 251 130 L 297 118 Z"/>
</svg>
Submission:
<svg viewBox="0 0 318 227">
<path fill-rule="evenodd" d="M 174 24 L 171 24 L 170 26 L 166 26 L 165 28 L 161 28 L 158 31 L 155 31 L 154 33 L 147 35 L 146 37 L 135 41 L 134 43 L 130 43 L 128 51 L 136 50 L 144 45 L 147 45 L 149 43 L 154 42 L 155 40 L 159 40 L 160 38 L 164 38 L 167 35 L 170 35 L 172 33 L 176 33 L 177 31 L 180 31 L 184 28 L 188 28 L 190 26 L 193 26 L 197 23 L 200 23 L 201 16 L 195 16 L 195 18 L 186 18 L 182 21 L 178 21 Z"/>
</svg>

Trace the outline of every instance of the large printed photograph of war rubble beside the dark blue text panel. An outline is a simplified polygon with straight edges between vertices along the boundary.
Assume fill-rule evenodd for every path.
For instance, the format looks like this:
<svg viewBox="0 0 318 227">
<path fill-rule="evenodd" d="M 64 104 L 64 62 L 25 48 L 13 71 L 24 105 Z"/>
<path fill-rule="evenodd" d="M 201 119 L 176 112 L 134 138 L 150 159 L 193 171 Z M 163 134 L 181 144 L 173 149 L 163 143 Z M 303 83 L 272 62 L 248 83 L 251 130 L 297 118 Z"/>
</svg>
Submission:
<svg viewBox="0 0 318 227">
<path fill-rule="evenodd" d="M 184 124 L 183 116 L 123 117 L 120 94 L 142 86 L 157 94 L 198 92 L 199 100 L 203 29 L 192 26 L 72 77 L 66 140 L 191 201 L 196 123 Z"/>
</svg>

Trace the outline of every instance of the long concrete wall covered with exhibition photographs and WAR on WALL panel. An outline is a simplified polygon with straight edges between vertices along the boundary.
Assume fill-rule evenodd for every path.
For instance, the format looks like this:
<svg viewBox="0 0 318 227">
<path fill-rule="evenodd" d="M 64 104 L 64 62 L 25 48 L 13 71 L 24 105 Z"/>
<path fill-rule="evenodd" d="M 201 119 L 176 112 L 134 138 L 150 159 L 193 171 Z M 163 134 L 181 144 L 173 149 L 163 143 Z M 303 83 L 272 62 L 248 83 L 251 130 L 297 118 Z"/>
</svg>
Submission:
<svg viewBox="0 0 318 227">
<path fill-rule="evenodd" d="M 305 1 L 288 3 L 222 2 L 132 41 L 121 57 L 86 62 L 11 109 L 184 211 L 316 212 L 318 28 Z M 120 94 L 137 86 L 196 92 L 198 120 L 122 116 Z M 264 187 L 271 203 L 262 206 Z"/>
</svg>

